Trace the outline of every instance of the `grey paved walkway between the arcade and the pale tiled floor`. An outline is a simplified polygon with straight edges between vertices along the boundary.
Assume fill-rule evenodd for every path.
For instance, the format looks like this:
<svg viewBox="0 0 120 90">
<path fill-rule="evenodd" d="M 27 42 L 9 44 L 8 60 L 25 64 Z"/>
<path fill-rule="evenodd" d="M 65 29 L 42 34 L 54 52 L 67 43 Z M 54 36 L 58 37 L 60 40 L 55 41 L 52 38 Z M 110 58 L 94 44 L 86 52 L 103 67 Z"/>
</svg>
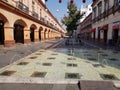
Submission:
<svg viewBox="0 0 120 90">
<path fill-rule="evenodd" d="M 45 40 L 41 42 L 31 42 L 30 44 L 17 43 L 15 47 L 6 48 L 0 46 L 0 68 L 14 61 L 21 59 L 40 49 L 46 49 L 62 39 Z"/>
</svg>

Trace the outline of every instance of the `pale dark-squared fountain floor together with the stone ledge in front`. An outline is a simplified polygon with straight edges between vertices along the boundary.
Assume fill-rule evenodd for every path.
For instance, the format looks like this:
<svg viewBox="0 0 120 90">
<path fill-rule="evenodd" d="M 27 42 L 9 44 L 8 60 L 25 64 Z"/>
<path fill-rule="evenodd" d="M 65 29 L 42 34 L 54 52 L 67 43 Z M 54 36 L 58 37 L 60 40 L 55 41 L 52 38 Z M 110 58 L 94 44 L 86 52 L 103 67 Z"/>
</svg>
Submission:
<svg viewBox="0 0 120 90">
<path fill-rule="evenodd" d="M 78 90 L 78 80 L 81 90 L 119 90 L 113 83 L 120 80 L 119 56 L 82 47 L 41 49 L 2 68 L 0 90 Z"/>
</svg>

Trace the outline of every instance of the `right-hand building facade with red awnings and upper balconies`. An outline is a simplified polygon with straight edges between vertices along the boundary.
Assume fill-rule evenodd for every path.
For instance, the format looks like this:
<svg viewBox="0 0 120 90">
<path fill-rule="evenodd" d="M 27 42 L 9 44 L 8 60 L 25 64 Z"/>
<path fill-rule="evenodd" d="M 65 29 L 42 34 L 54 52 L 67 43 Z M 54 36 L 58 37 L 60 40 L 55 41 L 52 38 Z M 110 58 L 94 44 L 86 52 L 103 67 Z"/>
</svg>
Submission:
<svg viewBox="0 0 120 90">
<path fill-rule="evenodd" d="M 92 28 L 95 41 L 120 43 L 120 0 L 93 0 Z"/>
</svg>

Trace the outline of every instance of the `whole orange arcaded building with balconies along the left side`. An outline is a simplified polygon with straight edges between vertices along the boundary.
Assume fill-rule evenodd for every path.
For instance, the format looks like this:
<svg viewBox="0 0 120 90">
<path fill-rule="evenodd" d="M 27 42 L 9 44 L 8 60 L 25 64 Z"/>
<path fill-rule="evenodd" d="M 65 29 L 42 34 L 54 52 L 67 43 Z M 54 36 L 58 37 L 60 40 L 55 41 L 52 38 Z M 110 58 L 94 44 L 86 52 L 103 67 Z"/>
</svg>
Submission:
<svg viewBox="0 0 120 90">
<path fill-rule="evenodd" d="M 64 35 L 42 0 L 0 0 L 0 44 L 28 44 Z"/>
</svg>

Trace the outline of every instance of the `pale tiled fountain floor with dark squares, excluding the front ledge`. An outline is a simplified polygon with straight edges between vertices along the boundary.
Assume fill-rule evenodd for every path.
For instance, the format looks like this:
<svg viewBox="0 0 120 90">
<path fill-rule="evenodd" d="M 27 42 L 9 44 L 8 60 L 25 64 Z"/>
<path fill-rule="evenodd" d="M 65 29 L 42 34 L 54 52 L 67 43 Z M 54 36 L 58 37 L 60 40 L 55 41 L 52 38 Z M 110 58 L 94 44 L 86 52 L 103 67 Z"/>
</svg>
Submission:
<svg viewBox="0 0 120 90">
<path fill-rule="evenodd" d="M 53 80 L 119 80 L 119 55 L 105 50 L 42 49 L 2 68 L 0 75 Z"/>
</svg>

